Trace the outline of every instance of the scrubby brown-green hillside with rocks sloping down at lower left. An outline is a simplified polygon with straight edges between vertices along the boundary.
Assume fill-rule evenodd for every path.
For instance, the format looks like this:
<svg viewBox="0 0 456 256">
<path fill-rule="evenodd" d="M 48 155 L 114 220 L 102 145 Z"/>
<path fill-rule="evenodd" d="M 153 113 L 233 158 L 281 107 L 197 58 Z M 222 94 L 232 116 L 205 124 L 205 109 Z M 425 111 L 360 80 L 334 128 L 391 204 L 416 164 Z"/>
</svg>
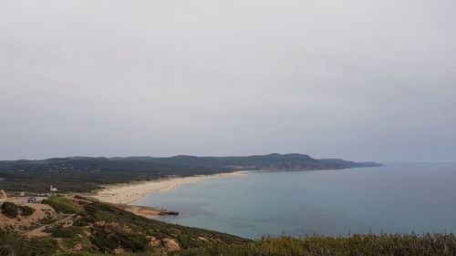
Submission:
<svg viewBox="0 0 456 256">
<path fill-rule="evenodd" d="M 55 213 L 40 220 L 6 226 L 0 235 L 3 250 L 17 255 L 53 255 L 64 251 L 116 253 L 122 251 L 181 251 L 212 245 L 240 245 L 248 240 L 150 220 L 97 200 L 51 197 L 43 200 Z M 3 205 L 20 208 L 12 202 Z M 30 204 L 34 206 L 34 204 Z M 2 211 L 1 214 L 5 214 Z M 20 223 L 29 223 L 21 225 Z M 8 255 L 2 254 L 0 255 Z"/>
</svg>

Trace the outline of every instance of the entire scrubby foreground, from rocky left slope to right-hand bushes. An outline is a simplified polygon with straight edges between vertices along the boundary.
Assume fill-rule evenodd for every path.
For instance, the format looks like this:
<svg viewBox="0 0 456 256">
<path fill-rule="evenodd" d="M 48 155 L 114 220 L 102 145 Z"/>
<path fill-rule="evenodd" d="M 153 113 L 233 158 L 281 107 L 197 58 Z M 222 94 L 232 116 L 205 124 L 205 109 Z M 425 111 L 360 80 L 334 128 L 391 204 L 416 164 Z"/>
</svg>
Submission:
<svg viewBox="0 0 456 256">
<path fill-rule="evenodd" d="M 0 230 L 0 256 L 456 255 L 456 237 L 452 234 L 366 234 L 248 241 L 216 231 L 149 220 L 88 198 L 51 197 L 43 202 L 55 212 L 29 226 Z M 11 207 L 9 203 L 8 208 Z"/>
</svg>

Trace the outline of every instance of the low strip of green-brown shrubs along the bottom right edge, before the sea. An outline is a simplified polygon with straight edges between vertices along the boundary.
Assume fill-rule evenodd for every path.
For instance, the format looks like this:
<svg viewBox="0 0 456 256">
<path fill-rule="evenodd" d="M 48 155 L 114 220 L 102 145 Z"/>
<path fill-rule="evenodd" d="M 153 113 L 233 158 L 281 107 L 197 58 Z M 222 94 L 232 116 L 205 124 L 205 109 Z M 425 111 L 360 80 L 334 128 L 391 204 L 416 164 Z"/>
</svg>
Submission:
<svg viewBox="0 0 456 256">
<path fill-rule="evenodd" d="M 178 255 L 231 256 L 453 256 L 452 234 L 354 235 L 342 237 L 266 238 L 247 245 L 212 246 L 182 251 Z"/>
</svg>

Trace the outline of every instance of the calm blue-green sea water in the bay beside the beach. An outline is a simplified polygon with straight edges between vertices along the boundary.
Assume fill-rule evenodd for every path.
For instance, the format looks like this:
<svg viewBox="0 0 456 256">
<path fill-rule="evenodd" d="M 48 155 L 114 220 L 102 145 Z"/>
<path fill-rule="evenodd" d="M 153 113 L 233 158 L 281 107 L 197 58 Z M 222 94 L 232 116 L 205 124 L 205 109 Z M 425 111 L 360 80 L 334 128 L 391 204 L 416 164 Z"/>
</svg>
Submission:
<svg viewBox="0 0 456 256">
<path fill-rule="evenodd" d="M 148 194 L 171 223 L 246 238 L 282 234 L 456 232 L 456 164 L 251 172 Z"/>
</svg>

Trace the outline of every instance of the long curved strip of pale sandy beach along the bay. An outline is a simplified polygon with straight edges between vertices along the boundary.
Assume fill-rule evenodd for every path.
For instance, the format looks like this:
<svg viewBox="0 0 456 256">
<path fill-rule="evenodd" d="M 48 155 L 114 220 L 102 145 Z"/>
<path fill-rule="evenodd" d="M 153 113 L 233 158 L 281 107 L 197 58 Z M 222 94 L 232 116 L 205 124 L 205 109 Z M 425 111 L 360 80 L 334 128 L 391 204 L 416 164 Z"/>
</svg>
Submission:
<svg viewBox="0 0 456 256">
<path fill-rule="evenodd" d="M 245 173 L 246 171 L 236 171 L 230 173 L 218 173 L 214 175 L 176 177 L 122 185 L 112 185 L 98 190 L 96 195 L 93 197 L 109 203 L 131 204 L 144 198 L 147 193 L 169 191 L 179 188 L 181 184 L 200 182 L 204 179 L 239 176 L 244 175 Z"/>
</svg>

